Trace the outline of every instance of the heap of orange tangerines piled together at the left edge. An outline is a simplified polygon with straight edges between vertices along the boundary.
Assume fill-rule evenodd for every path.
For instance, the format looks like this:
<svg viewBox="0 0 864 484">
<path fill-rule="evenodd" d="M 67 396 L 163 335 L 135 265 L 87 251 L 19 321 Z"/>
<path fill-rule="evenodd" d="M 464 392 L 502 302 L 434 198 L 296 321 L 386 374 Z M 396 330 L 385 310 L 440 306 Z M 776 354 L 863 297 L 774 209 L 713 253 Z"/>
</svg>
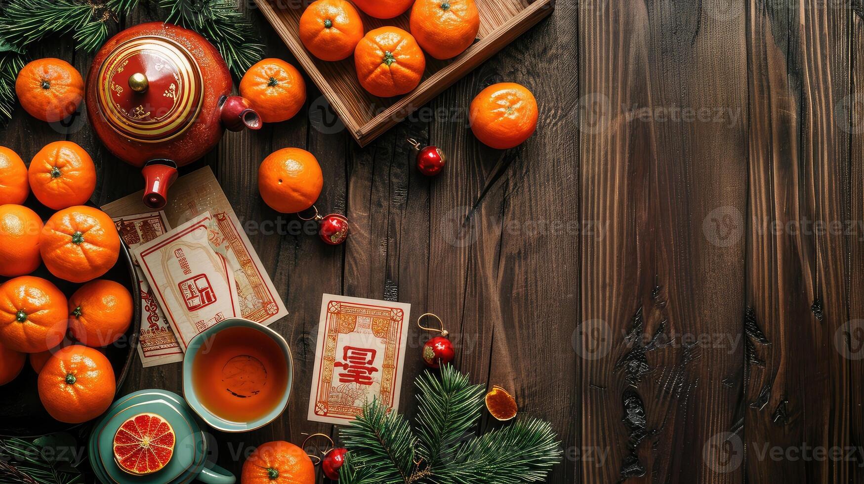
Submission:
<svg viewBox="0 0 864 484">
<path fill-rule="evenodd" d="M 114 371 L 96 348 L 125 334 L 133 315 L 129 290 L 98 278 L 117 262 L 120 238 L 106 213 L 81 205 L 95 187 L 92 158 L 75 143 L 49 143 L 29 168 L 0 147 L 0 276 L 10 277 L 0 284 L 0 385 L 16 379 L 29 359 L 45 409 L 69 424 L 111 405 Z M 44 223 L 22 205 L 31 191 L 57 211 Z M 41 264 L 83 285 L 67 299 L 31 275 Z"/>
</svg>

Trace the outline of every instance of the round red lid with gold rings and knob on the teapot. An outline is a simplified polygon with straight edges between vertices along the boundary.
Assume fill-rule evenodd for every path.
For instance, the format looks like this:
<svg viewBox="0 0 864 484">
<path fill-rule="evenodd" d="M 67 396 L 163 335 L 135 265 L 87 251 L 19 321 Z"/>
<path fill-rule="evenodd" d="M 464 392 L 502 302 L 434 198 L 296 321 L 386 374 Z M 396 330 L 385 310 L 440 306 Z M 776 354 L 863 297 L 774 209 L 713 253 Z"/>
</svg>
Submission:
<svg viewBox="0 0 864 484">
<path fill-rule="evenodd" d="M 99 111 L 111 128 L 143 143 L 186 131 L 204 99 L 192 54 L 161 35 L 136 37 L 115 48 L 99 68 L 97 89 Z"/>
</svg>

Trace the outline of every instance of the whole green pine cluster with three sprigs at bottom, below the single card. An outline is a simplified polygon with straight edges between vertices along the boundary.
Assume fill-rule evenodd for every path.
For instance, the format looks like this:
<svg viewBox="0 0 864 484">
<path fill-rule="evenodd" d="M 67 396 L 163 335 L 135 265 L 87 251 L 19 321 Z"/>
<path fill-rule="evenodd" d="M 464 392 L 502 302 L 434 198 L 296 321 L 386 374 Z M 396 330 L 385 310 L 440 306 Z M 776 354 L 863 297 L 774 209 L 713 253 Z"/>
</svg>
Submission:
<svg viewBox="0 0 864 484">
<path fill-rule="evenodd" d="M 423 373 L 416 386 L 420 437 L 378 400 L 365 404 L 340 430 L 348 448 L 340 484 L 521 484 L 544 481 L 561 461 L 552 426 L 536 418 L 472 438 L 483 386 L 452 366 L 443 366 L 440 377 Z"/>
</svg>

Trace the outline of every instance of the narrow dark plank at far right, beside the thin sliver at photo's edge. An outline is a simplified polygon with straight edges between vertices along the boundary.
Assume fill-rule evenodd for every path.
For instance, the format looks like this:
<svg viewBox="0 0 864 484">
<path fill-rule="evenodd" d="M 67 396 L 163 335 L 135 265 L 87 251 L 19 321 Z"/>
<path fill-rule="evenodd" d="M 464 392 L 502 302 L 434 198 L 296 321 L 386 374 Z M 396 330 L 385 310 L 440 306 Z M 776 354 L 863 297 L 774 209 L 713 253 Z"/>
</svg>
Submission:
<svg viewBox="0 0 864 484">
<path fill-rule="evenodd" d="M 801 156 L 806 180 L 805 213 L 829 227 L 849 220 L 849 136 L 841 129 L 835 106 L 850 86 L 849 29 L 852 11 L 805 5 L 801 10 L 802 55 Z M 813 273 L 815 314 L 812 339 L 820 360 L 816 379 L 826 400 L 815 402 L 804 430 L 804 442 L 826 449 L 849 443 L 848 360 L 834 347 L 837 331 L 848 321 L 848 246 L 842 233 L 815 231 L 816 263 Z M 808 281 L 810 282 L 810 281 Z M 796 355 L 797 356 L 797 355 Z M 817 387 L 818 387 L 817 386 Z M 810 398 L 809 389 L 805 391 Z M 810 424 L 813 423 L 813 424 Z M 832 459 L 808 463 L 808 481 L 848 482 L 851 462 Z"/>
</svg>

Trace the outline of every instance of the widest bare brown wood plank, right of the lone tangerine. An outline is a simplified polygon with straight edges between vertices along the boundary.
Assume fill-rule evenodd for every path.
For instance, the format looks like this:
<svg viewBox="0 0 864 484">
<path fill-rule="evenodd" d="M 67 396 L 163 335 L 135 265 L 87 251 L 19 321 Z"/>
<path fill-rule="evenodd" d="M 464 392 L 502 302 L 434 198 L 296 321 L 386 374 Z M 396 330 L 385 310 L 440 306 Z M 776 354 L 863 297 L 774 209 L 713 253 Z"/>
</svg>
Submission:
<svg viewBox="0 0 864 484">
<path fill-rule="evenodd" d="M 743 18 L 609 2 L 579 35 L 581 220 L 608 227 L 581 248 L 581 445 L 610 449 L 582 480 L 741 481 L 716 452 L 742 371 Z"/>
</svg>

